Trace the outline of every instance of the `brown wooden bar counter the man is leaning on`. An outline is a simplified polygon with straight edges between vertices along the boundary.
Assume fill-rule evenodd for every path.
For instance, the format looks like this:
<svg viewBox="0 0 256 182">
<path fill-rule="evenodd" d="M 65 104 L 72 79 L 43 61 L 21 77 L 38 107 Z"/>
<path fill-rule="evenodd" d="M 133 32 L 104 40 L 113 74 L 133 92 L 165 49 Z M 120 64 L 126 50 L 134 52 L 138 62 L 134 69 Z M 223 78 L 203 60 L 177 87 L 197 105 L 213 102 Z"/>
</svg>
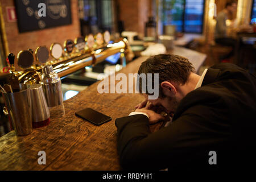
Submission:
<svg viewBox="0 0 256 182">
<path fill-rule="evenodd" d="M 188 57 L 198 67 L 205 55 L 189 49 L 175 47 L 171 53 Z M 137 73 L 147 57 L 139 57 L 127 64 L 120 72 Z M 198 69 L 198 68 L 197 68 Z M 99 82 L 90 85 L 75 97 L 64 102 L 65 115 L 51 119 L 48 126 L 33 129 L 24 137 L 15 132 L 0 138 L 0 170 L 119 170 L 117 154 L 116 118 L 125 117 L 134 106 L 143 101 L 140 94 L 100 94 Z M 112 121 L 101 126 L 76 117 L 75 112 L 91 107 L 112 117 Z M 153 125 L 151 130 L 158 130 Z M 46 164 L 38 164 L 38 152 L 46 152 Z"/>
</svg>

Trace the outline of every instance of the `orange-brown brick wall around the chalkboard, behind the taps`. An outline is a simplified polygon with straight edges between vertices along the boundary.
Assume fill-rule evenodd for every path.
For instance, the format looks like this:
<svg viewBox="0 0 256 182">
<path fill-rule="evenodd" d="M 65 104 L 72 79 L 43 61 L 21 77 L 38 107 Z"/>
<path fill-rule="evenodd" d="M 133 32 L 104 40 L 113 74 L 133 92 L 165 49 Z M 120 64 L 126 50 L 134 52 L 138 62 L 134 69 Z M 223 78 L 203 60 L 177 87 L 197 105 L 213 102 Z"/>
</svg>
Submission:
<svg viewBox="0 0 256 182">
<path fill-rule="evenodd" d="M 14 6 L 14 1 L 0 0 L 0 2 L 5 20 L 9 51 L 14 53 L 15 57 L 20 50 L 31 48 L 35 51 L 38 46 L 47 46 L 49 48 L 52 43 L 63 44 L 66 39 L 74 40 L 80 35 L 77 0 L 71 0 L 72 24 L 23 33 L 19 33 L 18 22 L 7 22 L 6 7 Z"/>
</svg>

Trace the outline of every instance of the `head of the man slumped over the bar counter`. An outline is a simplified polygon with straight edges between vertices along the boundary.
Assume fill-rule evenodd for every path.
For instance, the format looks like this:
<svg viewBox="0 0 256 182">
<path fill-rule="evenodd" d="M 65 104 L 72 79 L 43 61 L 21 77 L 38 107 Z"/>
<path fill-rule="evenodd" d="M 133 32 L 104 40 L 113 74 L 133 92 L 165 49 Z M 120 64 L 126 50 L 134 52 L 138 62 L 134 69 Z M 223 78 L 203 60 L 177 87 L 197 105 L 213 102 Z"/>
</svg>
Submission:
<svg viewBox="0 0 256 182">
<path fill-rule="evenodd" d="M 159 74 L 159 98 L 149 101 L 155 106 L 163 106 L 168 113 L 174 113 L 180 100 L 184 97 L 180 86 L 187 84 L 189 75 L 194 72 L 195 69 L 187 58 L 162 54 L 151 56 L 144 61 L 139 67 L 138 74 Z M 142 92 L 141 82 L 139 84 L 140 92 Z M 147 82 L 147 84 L 154 86 L 154 83 Z M 144 96 L 147 97 L 147 94 Z"/>
</svg>

